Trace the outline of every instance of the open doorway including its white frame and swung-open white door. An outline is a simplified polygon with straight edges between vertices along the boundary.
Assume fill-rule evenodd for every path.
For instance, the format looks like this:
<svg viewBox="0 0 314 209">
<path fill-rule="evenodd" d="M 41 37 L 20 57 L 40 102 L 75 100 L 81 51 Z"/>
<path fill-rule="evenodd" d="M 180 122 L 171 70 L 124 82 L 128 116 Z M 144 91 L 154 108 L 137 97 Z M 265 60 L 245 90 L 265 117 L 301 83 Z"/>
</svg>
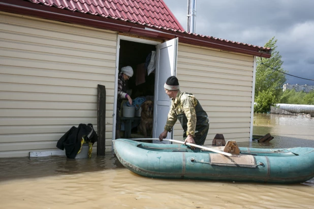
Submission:
<svg viewBox="0 0 314 209">
<path fill-rule="evenodd" d="M 119 74 L 121 68 L 124 66 L 131 66 L 133 68 L 134 74 L 127 82 L 125 93 L 131 95 L 132 100 L 135 100 L 133 105 L 137 105 L 137 108 L 134 115 L 130 117 L 128 111 L 123 113 L 123 108 L 127 110 L 132 106 L 130 103 L 128 104 L 128 99 L 124 99 L 124 103 L 119 105 L 119 118 L 122 118 L 122 120 L 121 124 L 116 126 L 116 117 L 113 118 L 113 138 L 116 138 L 116 129 L 119 131 L 118 133 L 121 138 L 157 138 L 164 131 L 165 122 L 167 121 L 171 106 L 171 100 L 164 90 L 164 83 L 167 78 L 176 75 L 178 38 L 163 43 L 130 37 L 123 37 L 123 40 L 121 38 L 118 39 L 117 47 L 117 73 Z M 117 81 L 118 78 L 115 81 L 115 98 L 118 93 Z M 141 102 L 143 100 L 152 101 L 153 103 L 153 116 L 150 116 L 150 120 L 148 120 L 152 126 L 152 130 L 147 129 L 146 137 L 143 132 L 143 126 L 141 126 L 143 109 L 140 109 L 140 107 L 142 107 Z M 117 100 L 115 100 L 115 116 L 117 116 L 117 103 Z M 144 104 L 144 102 L 142 103 Z M 129 117 L 125 117 L 125 114 Z M 168 134 L 166 138 L 173 138 L 173 129 L 171 134 Z M 169 144 L 170 142 L 153 140 L 152 143 Z"/>
</svg>

